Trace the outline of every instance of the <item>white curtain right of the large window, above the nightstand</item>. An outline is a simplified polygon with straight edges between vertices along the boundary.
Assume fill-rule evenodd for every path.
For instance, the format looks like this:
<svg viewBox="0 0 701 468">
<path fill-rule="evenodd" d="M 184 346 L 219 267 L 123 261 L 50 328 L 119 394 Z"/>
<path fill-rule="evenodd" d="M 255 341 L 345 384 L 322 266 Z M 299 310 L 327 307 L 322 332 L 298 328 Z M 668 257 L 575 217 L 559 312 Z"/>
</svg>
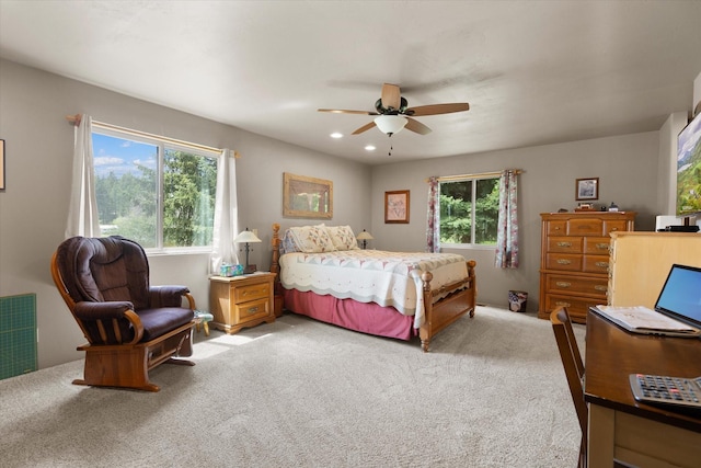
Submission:
<svg viewBox="0 0 701 468">
<path fill-rule="evenodd" d="M 239 263 L 233 239 L 238 229 L 237 165 L 233 152 L 225 149 L 217 164 L 217 199 L 215 202 L 215 226 L 209 261 L 210 273 L 219 274 L 222 263 Z"/>
</svg>

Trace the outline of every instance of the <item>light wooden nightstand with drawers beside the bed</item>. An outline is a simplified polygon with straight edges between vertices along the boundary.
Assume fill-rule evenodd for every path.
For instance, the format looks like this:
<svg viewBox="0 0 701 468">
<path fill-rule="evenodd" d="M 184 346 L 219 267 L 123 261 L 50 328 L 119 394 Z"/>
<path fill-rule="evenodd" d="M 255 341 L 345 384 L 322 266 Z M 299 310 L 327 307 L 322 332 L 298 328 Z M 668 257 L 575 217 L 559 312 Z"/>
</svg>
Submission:
<svg viewBox="0 0 701 468">
<path fill-rule="evenodd" d="M 211 276 L 209 308 L 211 326 L 229 334 L 245 327 L 275 321 L 273 301 L 274 273 L 257 272 L 242 276 Z"/>
</svg>

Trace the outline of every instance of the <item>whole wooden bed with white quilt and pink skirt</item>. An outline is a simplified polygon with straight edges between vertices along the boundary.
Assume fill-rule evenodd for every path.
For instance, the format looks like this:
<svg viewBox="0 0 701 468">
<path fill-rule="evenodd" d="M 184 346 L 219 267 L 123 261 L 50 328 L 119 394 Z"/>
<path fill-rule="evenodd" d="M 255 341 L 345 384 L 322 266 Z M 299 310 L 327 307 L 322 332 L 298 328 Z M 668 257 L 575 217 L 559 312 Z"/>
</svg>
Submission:
<svg viewBox="0 0 701 468">
<path fill-rule="evenodd" d="M 379 336 L 424 352 L 439 331 L 474 317 L 473 260 L 450 253 L 361 250 L 348 226 L 273 225 L 276 309 Z"/>
</svg>

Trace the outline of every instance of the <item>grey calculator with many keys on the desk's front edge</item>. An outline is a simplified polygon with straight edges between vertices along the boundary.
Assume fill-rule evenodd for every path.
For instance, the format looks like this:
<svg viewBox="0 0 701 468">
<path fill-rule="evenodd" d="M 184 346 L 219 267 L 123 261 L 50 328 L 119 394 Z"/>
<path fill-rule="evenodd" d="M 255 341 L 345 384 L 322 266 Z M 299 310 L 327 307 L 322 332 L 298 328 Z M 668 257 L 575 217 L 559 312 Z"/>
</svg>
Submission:
<svg viewBox="0 0 701 468">
<path fill-rule="evenodd" d="M 630 383 L 637 401 L 701 409 L 701 377 L 631 374 Z"/>
</svg>

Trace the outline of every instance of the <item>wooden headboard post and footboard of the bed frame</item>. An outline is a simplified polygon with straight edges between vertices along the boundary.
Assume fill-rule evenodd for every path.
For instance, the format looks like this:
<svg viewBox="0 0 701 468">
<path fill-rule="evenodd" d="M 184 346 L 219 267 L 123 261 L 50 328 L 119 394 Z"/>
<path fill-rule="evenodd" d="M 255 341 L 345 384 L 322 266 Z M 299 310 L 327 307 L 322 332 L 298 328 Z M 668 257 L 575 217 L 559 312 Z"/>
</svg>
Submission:
<svg viewBox="0 0 701 468">
<path fill-rule="evenodd" d="M 271 272 L 275 273 L 275 308 L 281 310 L 283 308 L 283 295 L 279 285 L 279 238 L 280 226 L 278 224 L 273 225 L 273 255 L 271 262 Z M 421 338 L 421 346 L 424 352 L 428 351 L 430 340 L 440 330 L 445 329 L 460 317 L 469 313 L 470 317 L 474 317 L 474 307 L 476 303 L 476 282 L 474 267 L 476 262 L 474 260 L 467 261 L 468 276 L 458 282 L 449 285 L 445 285 L 439 289 L 432 290 L 430 281 L 433 274 L 426 272 L 422 275 L 424 285 L 424 307 L 426 321 L 418 330 L 418 336 Z M 446 296 L 447 295 L 447 296 Z M 443 297 L 445 296 L 445 297 Z M 443 297 L 436 301 L 436 297 Z M 399 313 L 399 312 L 398 312 Z"/>
</svg>

